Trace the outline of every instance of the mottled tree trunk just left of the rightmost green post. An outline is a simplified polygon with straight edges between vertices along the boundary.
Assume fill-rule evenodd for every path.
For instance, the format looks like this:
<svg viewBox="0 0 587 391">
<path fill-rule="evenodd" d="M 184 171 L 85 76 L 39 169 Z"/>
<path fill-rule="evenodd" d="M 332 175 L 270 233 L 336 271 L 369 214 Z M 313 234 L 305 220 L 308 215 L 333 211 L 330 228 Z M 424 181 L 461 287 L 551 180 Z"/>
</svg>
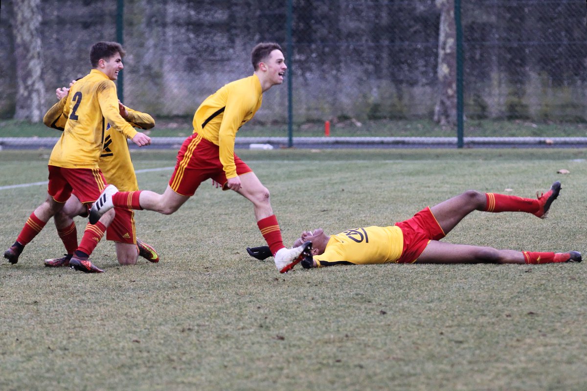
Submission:
<svg viewBox="0 0 587 391">
<path fill-rule="evenodd" d="M 436 0 L 440 9 L 438 30 L 438 100 L 434 121 L 441 125 L 457 123 L 457 30 L 454 0 Z"/>
</svg>

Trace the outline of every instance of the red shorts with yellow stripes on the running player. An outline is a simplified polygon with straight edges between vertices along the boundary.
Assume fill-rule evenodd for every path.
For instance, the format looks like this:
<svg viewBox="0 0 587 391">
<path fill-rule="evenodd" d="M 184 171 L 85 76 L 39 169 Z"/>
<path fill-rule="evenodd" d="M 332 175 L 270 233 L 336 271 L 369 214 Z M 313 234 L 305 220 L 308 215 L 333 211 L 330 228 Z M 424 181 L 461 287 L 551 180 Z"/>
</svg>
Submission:
<svg viewBox="0 0 587 391">
<path fill-rule="evenodd" d="M 236 154 L 234 164 L 237 166 L 237 175 L 252 171 Z M 169 180 L 169 186 L 174 192 L 190 197 L 194 195 L 200 183 L 210 178 L 222 185 L 227 182 L 218 154 L 218 145 L 194 133 L 185 139 L 177 153 L 176 168 Z"/>
</svg>

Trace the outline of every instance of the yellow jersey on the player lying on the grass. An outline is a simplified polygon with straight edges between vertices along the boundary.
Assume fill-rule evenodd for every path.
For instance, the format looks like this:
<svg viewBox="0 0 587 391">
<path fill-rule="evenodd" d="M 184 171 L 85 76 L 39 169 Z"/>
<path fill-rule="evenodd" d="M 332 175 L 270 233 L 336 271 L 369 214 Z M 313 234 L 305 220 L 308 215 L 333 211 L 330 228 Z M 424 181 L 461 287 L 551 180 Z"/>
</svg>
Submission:
<svg viewBox="0 0 587 391">
<path fill-rule="evenodd" d="M 323 254 L 313 256 L 318 267 L 336 264 L 374 264 L 396 262 L 403 251 L 399 227 L 349 229 L 330 236 Z"/>
</svg>

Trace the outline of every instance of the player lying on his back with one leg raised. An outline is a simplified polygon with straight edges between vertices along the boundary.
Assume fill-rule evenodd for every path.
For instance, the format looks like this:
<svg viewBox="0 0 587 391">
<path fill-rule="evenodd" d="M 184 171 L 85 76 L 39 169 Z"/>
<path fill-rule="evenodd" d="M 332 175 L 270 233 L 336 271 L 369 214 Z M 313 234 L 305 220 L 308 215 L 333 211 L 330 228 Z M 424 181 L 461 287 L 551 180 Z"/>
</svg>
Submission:
<svg viewBox="0 0 587 391">
<path fill-rule="evenodd" d="M 312 242 L 312 256 L 303 258 L 305 268 L 379 263 L 514 263 L 539 264 L 581 262 L 581 253 L 497 250 L 491 247 L 439 242 L 465 216 L 482 212 L 525 212 L 544 219 L 558 197 L 561 183 L 538 199 L 469 190 L 431 208 L 420 210 L 411 219 L 387 227 L 349 229 L 327 235 L 323 229 L 305 231 L 294 246 Z M 266 246 L 247 249 L 251 256 L 265 259 Z"/>
</svg>

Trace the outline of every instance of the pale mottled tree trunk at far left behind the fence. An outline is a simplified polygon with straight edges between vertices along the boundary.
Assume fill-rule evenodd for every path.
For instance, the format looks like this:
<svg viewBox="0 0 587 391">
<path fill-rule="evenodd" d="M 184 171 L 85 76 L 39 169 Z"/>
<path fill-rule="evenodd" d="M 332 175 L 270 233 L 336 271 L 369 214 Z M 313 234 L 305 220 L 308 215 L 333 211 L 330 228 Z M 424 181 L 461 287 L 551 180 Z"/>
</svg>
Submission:
<svg viewBox="0 0 587 391">
<path fill-rule="evenodd" d="M 14 118 L 39 122 L 45 110 L 42 79 L 41 0 L 14 4 L 13 34 L 16 58 L 16 110 Z"/>
</svg>

